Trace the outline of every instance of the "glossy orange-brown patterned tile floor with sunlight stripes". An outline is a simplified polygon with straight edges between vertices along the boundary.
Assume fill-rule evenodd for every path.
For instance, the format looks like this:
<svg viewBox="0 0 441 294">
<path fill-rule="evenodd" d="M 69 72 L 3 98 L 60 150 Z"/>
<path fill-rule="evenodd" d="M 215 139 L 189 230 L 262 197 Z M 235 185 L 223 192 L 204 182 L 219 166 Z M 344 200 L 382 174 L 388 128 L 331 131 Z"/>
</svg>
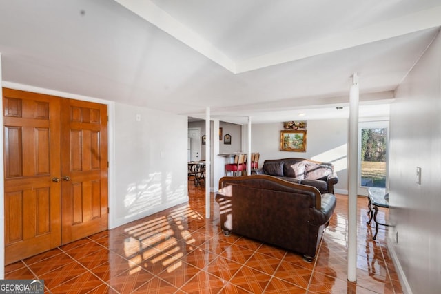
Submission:
<svg viewBox="0 0 441 294">
<path fill-rule="evenodd" d="M 189 202 L 6 266 L 6 279 L 44 279 L 46 293 L 402 293 L 387 251 L 387 228 L 372 240 L 367 200 L 358 198 L 357 282 L 347 281 L 347 196 L 317 258 L 238 235 L 225 237 L 205 192 Z M 380 209 L 378 220 L 387 218 Z"/>
</svg>

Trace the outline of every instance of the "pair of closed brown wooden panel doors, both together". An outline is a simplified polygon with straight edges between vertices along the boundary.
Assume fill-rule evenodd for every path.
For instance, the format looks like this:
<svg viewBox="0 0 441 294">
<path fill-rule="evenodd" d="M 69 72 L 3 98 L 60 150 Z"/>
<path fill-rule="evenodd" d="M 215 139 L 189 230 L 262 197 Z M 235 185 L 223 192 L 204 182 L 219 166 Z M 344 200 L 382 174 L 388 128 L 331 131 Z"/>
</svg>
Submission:
<svg viewBox="0 0 441 294">
<path fill-rule="evenodd" d="M 107 229 L 107 105 L 3 88 L 5 264 Z"/>
</svg>

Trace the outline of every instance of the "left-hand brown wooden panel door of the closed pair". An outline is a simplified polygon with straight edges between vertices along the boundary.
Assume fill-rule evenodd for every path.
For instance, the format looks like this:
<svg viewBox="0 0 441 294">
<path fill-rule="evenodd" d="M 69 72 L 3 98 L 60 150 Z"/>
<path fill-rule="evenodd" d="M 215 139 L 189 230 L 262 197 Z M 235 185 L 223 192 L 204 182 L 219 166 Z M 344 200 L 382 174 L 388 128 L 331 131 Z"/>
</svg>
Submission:
<svg viewBox="0 0 441 294">
<path fill-rule="evenodd" d="M 3 89 L 6 264 L 61 244 L 59 107 Z"/>
</svg>

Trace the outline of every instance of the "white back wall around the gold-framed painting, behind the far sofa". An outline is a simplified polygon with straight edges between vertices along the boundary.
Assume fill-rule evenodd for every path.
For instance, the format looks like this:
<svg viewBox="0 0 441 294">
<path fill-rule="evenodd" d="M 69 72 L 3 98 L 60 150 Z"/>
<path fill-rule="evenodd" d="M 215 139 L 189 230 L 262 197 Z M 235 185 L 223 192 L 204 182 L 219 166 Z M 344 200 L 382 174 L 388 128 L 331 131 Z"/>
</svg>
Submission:
<svg viewBox="0 0 441 294">
<path fill-rule="evenodd" d="M 338 174 L 337 193 L 347 193 L 348 120 L 307 120 L 306 152 L 280 151 L 283 123 L 252 124 L 252 152 L 259 152 L 259 167 L 266 159 L 289 157 L 331 162 Z"/>
</svg>

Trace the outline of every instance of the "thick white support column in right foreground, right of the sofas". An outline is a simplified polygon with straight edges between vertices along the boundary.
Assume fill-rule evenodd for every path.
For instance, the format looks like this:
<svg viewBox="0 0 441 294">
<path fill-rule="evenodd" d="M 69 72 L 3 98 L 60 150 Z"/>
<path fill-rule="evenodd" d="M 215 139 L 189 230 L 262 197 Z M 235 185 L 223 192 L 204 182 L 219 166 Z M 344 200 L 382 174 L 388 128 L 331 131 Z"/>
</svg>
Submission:
<svg viewBox="0 0 441 294">
<path fill-rule="evenodd" d="M 358 74 L 353 73 L 349 97 L 349 200 L 348 200 L 348 247 L 347 280 L 357 281 L 357 169 L 358 169 L 358 101 L 360 87 Z"/>
</svg>

